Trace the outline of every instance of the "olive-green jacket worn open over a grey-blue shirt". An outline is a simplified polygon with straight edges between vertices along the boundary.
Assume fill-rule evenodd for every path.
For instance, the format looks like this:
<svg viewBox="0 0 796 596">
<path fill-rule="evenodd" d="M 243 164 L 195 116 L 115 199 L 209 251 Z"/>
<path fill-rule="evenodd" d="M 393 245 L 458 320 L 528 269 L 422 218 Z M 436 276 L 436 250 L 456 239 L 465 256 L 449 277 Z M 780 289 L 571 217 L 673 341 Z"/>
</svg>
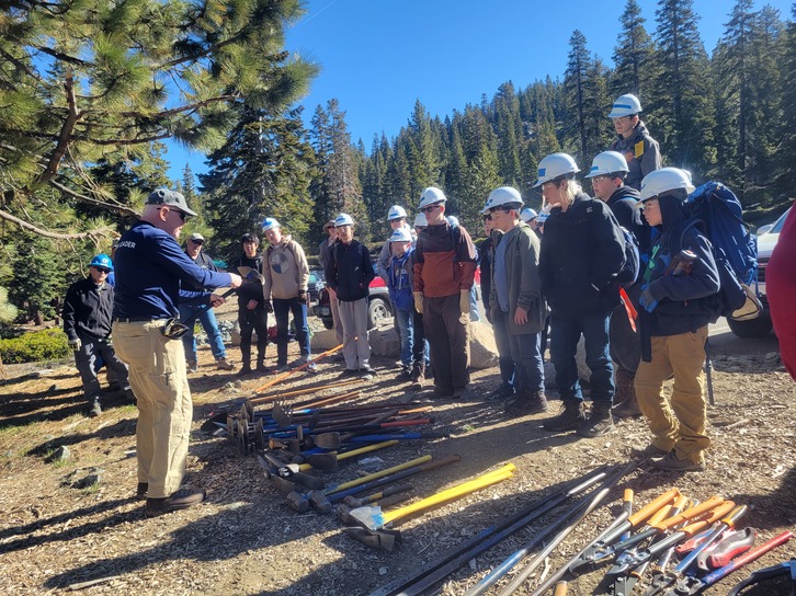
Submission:
<svg viewBox="0 0 796 596">
<path fill-rule="evenodd" d="M 505 266 L 509 280 L 509 333 L 524 335 L 538 333 L 545 326 L 547 303 L 542 296 L 539 278 L 539 239 L 531 227 L 521 221 L 516 233 L 508 240 L 504 234 L 492 234 L 494 250 L 501 242 L 508 241 L 505 248 Z M 494 286 L 494 262 L 492 262 L 492 287 L 489 291 L 489 303 L 494 312 L 498 306 L 498 290 Z M 518 325 L 514 322 L 516 308 L 527 310 L 527 322 Z"/>
</svg>

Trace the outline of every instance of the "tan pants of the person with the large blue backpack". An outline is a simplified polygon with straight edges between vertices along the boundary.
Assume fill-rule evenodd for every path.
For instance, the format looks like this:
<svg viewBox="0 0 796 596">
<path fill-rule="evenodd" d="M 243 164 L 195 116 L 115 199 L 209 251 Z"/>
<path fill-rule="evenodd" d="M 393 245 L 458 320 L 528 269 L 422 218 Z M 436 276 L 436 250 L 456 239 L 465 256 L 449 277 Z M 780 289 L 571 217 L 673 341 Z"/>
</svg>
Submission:
<svg viewBox="0 0 796 596">
<path fill-rule="evenodd" d="M 670 451 L 678 459 L 704 461 L 710 446 L 705 434 L 707 402 L 703 392 L 707 325 L 695 333 L 652 337 L 652 360 L 641 360 L 636 370 L 638 405 L 649 423 L 652 445 Z M 669 399 L 663 381 L 674 375 Z"/>
</svg>

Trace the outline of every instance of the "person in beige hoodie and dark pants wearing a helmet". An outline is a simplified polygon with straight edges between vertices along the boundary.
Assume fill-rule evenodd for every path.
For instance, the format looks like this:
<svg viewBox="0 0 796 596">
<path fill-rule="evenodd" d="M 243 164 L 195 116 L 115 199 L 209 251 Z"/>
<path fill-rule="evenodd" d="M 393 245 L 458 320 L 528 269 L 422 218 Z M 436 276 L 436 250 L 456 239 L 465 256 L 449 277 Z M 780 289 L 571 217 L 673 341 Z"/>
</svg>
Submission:
<svg viewBox="0 0 796 596">
<path fill-rule="evenodd" d="M 287 364 L 287 343 L 289 341 L 289 316 L 296 328 L 296 340 L 302 364 L 307 364 L 308 373 L 317 373 L 309 347 L 309 324 L 307 323 L 307 284 L 309 264 L 304 249 L 289 236 L 282 233 L 282 226 L 272 217 L 263 220 L 262 230 L 271 244 L 265 249 L 262 275 L 265 278 L 262 291 L 265 301 L 273 302 L 276 319 L 276 369 L 284 373 Z"/>
</svg>

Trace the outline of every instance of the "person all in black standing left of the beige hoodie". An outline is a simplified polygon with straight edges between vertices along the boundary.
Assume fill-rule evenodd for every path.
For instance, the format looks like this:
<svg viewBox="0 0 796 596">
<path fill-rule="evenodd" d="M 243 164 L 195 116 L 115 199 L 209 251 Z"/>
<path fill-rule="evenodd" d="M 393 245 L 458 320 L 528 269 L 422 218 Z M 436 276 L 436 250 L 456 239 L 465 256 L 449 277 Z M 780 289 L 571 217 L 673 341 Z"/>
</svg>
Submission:
<svg viewBox="0 0 796 596">
<path fill-rule="evenodd" d="M 245 233 L 240 237 L 240 245 L 243 254 L 232 261 L 232 271 L 238 267 L 251 267 L 257 272 L 262 271 L 262 255 L 257 253 L 260 247 L 260 239 L 257 234 Z M 268 373 L 265 366 L 265 346 L 269 341 L 269 309 L 271 302 L 265 301 L 262 294 L 262 284 L 254 280 L 243 280 L 238 288 L 238 325 L 240 326 L 240 357 L 243 366 L 238 375 L 251 373 L 251 334 L 257 332 L 257 370 Z"/>
</svg>

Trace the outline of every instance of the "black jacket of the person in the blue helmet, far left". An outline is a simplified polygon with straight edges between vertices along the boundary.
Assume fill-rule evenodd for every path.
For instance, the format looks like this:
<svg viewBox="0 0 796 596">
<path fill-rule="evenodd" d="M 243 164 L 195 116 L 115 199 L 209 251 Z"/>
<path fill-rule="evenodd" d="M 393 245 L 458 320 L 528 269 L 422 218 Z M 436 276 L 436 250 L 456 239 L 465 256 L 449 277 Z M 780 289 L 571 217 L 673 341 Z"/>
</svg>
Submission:
<svg viewBox="0 0 796 596">
<path fill-rule="evenodd" d="M 64 333 L 69 340 L 79 336 L 104 340 L 111 334 L 113 286 L 96 286 L 91 277 L 75 282 L 64 299 Z"/>
</svg>

